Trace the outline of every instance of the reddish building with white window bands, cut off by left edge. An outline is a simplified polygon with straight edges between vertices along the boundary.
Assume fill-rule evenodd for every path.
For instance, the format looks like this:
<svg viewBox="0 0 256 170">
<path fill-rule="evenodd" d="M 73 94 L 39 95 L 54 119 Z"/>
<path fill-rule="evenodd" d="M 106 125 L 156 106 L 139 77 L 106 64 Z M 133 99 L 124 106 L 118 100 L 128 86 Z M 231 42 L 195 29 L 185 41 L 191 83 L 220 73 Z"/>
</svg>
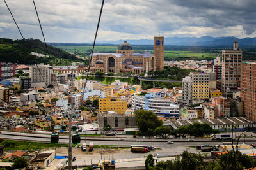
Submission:
<svg viewBox="0 0 256 170">
<path fill-rule="evenodd" d="M 14 64 L 0 62 L 0 81 L 13 78 L 15 76 Z"/>
</svg>

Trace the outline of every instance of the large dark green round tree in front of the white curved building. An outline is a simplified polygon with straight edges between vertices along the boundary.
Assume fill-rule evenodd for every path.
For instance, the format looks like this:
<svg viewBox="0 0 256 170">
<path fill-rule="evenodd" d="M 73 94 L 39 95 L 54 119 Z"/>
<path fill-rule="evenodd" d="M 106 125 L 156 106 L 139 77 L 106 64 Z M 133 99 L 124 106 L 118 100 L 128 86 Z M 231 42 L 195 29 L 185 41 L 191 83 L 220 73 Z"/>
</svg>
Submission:
<svg viewBox="0 0 256 170">
<path fill-rule="evenodd" d="M 152 135 L 154 129 L 163 125 L 162 120 L 159 120 L 152 111 L 136 110 L 134 111 L 134 115 L 138 129 L 140 129 L 140 134 Z"/>
</svg>

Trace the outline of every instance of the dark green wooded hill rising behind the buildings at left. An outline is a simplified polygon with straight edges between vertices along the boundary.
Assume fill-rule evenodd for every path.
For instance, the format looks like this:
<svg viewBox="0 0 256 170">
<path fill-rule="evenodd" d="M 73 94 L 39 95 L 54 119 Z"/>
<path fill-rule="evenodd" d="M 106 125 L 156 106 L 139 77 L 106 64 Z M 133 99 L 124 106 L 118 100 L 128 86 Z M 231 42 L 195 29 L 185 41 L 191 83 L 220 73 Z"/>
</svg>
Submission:
<svg viewBox="0 0 256 170">
<path fill-rule="evenodd" d="M 12 62 L 18 64 L 52 63 L 56 65 L 67 65 L 75 61 L 84 61 L 78 59 L 74 54 L 67 53 L 60 48 L 51 45 L 47 45 L 51 57 L 31 55 L 31 52 L 48 55 L 45 44 L 39 39 L 26 39 L 26 44 L 23 40 L 0 38 L 0 62 Z"/>
</svg>

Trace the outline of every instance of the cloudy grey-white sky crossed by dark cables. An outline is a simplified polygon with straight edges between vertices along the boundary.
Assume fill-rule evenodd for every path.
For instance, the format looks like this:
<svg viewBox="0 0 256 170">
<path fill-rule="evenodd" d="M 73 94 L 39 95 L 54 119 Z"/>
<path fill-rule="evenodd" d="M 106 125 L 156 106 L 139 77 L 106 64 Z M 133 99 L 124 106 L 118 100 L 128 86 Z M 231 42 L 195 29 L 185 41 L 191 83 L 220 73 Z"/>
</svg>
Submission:
<svg viewBox="0 0 256 170">
<path fill-rule="evenodd" d="M 47 42 L 92 42 L 101 0 L 35 0 Z M 6 0 L 25 38 L 42 40 L 32 0 Z M 165 37 L 256 36 L 255 0 L 106 0 L 98 41 Z M 0 37 L 20 39 L 0 3 Z"/>
</svg>

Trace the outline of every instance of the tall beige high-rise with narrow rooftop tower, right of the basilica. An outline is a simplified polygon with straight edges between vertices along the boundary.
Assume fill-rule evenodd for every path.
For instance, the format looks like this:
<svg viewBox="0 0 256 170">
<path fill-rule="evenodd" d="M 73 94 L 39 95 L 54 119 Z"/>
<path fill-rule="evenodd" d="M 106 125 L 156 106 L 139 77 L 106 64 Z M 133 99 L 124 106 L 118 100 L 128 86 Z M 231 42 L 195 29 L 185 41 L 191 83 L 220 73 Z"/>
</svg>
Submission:
<svg viewBox="0 0 256 170">
<path fill-rule="evenodd" d="M 238 41 L 234 41 L 233 50 L 222 50 L 222 77 L 221 91 L 228 96 L 240 87 L 242 50 L 239 50 Z"/>
</svg>

